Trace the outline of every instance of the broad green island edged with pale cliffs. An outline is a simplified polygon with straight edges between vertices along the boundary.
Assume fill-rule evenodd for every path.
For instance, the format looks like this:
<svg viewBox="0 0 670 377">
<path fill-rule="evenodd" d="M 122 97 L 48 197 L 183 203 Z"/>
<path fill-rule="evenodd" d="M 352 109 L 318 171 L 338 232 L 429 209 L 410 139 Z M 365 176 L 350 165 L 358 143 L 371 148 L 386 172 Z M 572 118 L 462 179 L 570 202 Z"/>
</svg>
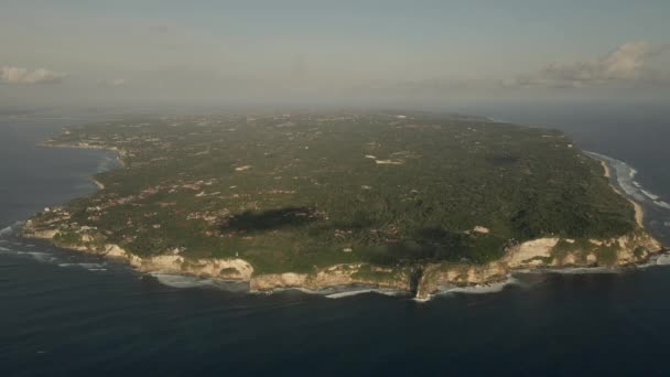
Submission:
<svg viewBox="0 0 670 377">
<path fill-rule="evenodd" d="M 93 195 L 35 214 L 24 237 L 251 291 L 361 284 L 426 299 L 663 250 L 602 161 L 560 131 L 486 118 L 142 117 L 44 146 L 112 150 L 121 165 L 93 177 Z"/>
</svg>

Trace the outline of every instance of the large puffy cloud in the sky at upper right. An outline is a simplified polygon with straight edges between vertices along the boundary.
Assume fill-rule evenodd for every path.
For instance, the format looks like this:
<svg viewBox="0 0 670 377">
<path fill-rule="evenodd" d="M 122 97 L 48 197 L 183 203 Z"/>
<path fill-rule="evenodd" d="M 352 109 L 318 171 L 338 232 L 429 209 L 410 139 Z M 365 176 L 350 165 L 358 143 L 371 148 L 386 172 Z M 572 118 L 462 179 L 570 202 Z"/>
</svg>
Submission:
<svg viewBox="0 0 670 377">
<path fill-rule="evenodd" d="M 575 63 L 553 63 L 531 75 L 504 83 L 506 87 L 582 88 L 616 83 L 658 83 L 662 74 L 648 67 L 652 57 L 667 51 L 646 42 L 630 42 L 609 54 Z"/>
</svg>

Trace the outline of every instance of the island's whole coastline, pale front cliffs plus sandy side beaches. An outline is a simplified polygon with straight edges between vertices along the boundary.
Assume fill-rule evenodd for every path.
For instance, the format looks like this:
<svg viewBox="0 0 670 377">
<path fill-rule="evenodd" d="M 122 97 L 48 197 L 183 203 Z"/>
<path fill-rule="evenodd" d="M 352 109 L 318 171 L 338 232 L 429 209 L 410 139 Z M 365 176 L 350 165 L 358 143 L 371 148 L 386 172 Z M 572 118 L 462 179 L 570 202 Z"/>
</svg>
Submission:
<svg viewBox="0 0 670 377">
<path fill-rule="evenodd" d="M 120 165 L 125 166 L 121 160 L 123 151 L 117 148 L 105 148 L 100 146 L 88 144 L 48 144 L 44 147 L 57 148 L 83 148 L 83 149 L 101 149 L 117 152 Z M 609 166 L 601 160 L 605 170 L 605 176 L 610 179 Z M 105 185 L 91 177 L 98 188 L 104 190 Z M 58 247 L 97 254 L 110 258 L 122 258 L 130 266 L 140 272 L 158 273 L 168 272 L 192 277 L 206 277 L 219 279 L 223 281 L 245 282 L 249 284 L 251 292 L 272 292 L 282 289 L 299 289 L 311 292 L 325 289 L 345 289 L 347 287 L 360 286 L 369 287 L 371 290 L 392 289 L 399 292 L 415 293 L 419 300 L 428 300 L 439 292 L 453 290 L 454 288 L 467 289 L 482 286 L 489 286 L 506 281 L 509 276 L 519 270 L 562 270 L 565 268 L 583 267 L 583 268 L 617 268 L 625 266 L 635 266 L 646 262 L 651 256 L 664 252 L 667 249 L 653 239 L 644 229 L 642 209 L 641 206 L 629 197 L 619 192 L 610 182 L 610 186 L 618 194 L 623 195 L 636 208 L 636 222 L 639 225 L 639 231 L 631 235 L 624 235 L 618 238 L 595 240 L 592 239 L 591 248 L 599 246 L 624 245 L 624 248 L 617 252 L 614 261 L 605 261 L 596 251 L 580 250 L 577 248 L 570 249 L 561 256 L 554 256 L 553 249 L 559 241 L 565 239 L 559 238 L 539 238 L 529 240 L 523 244 L 509 248 L 506 255 L 500 259 L 486 265 L 469 265 L 469 263 L 453 263 L 453 262 L 435 262 L 414 267 L 421 271 L 418 278 L 413 277 L 415 270 L 406 268 L 401 271 L 393 271 L 378 266 L 371 266 L 375 271 L 382 271 L 383 279 L 366 278 L 358 272 L 363 263 L 336 265 L 322 268 L 310 273 L 253 273 L 252 266 L 239 258 L 235 259 L 187 259 L 179 255 L 161 255 L 149 258 L 141 258 L 132 255 L 118 245 L 106 244 L 102 248 L 94 247 L 91 244 L 86 245 L 58 245 L 54 239 L 58 229 L 40 229 L 34 228 L 31 220 L 26 222 L 21 236 L 26 238 L 47 239 Z M 565 240 L 571 243 L 571 240 Z M 574 243 L 574 240 L 572 240 Z M 637 249 L 644 247 L 645 251 L 637 254 Z M 225 272 L 224 272 L 225 271 Z"/>
</svg>

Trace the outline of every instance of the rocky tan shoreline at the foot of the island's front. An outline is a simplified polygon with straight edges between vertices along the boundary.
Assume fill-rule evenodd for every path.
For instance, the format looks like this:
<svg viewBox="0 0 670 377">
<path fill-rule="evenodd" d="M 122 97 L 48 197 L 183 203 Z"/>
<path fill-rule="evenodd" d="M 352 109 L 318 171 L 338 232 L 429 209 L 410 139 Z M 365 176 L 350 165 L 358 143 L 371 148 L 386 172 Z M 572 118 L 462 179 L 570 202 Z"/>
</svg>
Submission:
<svg viewBox="0 0 670 377">
<path fill-rule="evenodd" d="M 558 243 L 555 239 L 536 239 L 520 247 L 508 250 L 507 255 L 500 260 L 491 261 L 486 265 L 465 265 L 465 263 L 429 263 L 423 265 L 423 273 L 418 278 L 413 288 L 411 271 L 397 271 L 391 279 L 370 280 L 369 278 L 357 277 L 356 272 L 361 263 L 335 265 L 321 268 L 311 273 L 260 273 L 256 274 L 253 267 L 240 258 L 234 259 L 188 259 L 179 255 L 160 255 L 155 257 L 142 258 L 132 255 L 116 244 L 106 244 L 104 249 L 94 249 L 85 245 L 63 246 L 53 241 L 57 230 L 30 230 L 30 223 L 23 224 L 19 236 L 25 239 L 44 239 L 52 245 L 65 250 L 86 252 L 101 256 L 105 258 L 122 261 L 132 267 L 136 271 L 147 274 L 168 273 L 196 279 L 213 279 L 220 282 L 235 282 L 248 284 L 248 293 L 272 294 L 282 290 L 299 290 L 310 294 L 320 294 L 331 291 L 338 295 L 354 295 L 355 291 L 360 293 L 376 292 L 388 293 L 393 291 L 398 295 L 411 295 L 412 299 L 423 302 L 430 301 L 433 297 L 451 292 L 479 292 L 488 291 L 491 287 L 502 288 L 507 286 L 514 273 L 569 273 L 571 270 L 580 269 L 584 273 L 602 273 L 607 271 L 622 271 L 648 267 L 650 260 L 670 251 L 650 236 L 623 236 L 612 240 L 592 240 L 595 243 L 624 241 L 630 249 L 617 252 L 616 261 L 612 265 L 601 263 L 593 252 L 583 256 L 581 259 L 573 252 L 568 252 L 562 258 L 552 262 L 542 261 L 542 258 L 551 256 L 552 245 Z M 25 233 L 28 230 L 29 233 Z M 641 237 L 641 238 L 640 238 Z M 550 241 L 551 240 L 551 241 Z M 555 241 L 555 243 L 554 243 Z M 648 251 L 636 255 L 633 247 L 645 245 Z M 224 270 L 231 270 L 221 274 Z M 449 287 L 444 289 L 444 287 Z M 333 292 L 334 291 L 334 292 Z"/>
</svg>

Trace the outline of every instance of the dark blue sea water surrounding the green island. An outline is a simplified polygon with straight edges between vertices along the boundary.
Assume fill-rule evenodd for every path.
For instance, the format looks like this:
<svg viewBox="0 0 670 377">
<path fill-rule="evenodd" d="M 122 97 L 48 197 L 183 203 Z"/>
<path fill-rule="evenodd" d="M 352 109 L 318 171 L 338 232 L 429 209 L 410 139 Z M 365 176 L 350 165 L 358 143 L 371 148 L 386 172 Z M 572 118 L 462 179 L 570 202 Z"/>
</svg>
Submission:
<svg viewBox="0 0 670 377">
<path fill-rule="evenodd" d="M 572 119 L 565 128 L 580 144 L 634 165 L 668 197 L 670 172 L 659 164 L 670 152 L 642 148 L 658 134 L 635 133 L 647 142 L 631 147 L 625 126 L 616 132 L 624 140 L 598 136 L 619 117 L 584 117 L 599 131 L 571 131 Z M 669 119 L 649 127 L 667 132 Z M 90 193 L 87 176 L 114 164 L 101 152 L 34 147 L 69 122 L 0 121 L 0 229 Z M 7 231 L 0 248 L 0 376 L 670 375 L 668 267 L 527 274 L 501 292 L 418 303 L 173 288 Z"/>
</svg>

